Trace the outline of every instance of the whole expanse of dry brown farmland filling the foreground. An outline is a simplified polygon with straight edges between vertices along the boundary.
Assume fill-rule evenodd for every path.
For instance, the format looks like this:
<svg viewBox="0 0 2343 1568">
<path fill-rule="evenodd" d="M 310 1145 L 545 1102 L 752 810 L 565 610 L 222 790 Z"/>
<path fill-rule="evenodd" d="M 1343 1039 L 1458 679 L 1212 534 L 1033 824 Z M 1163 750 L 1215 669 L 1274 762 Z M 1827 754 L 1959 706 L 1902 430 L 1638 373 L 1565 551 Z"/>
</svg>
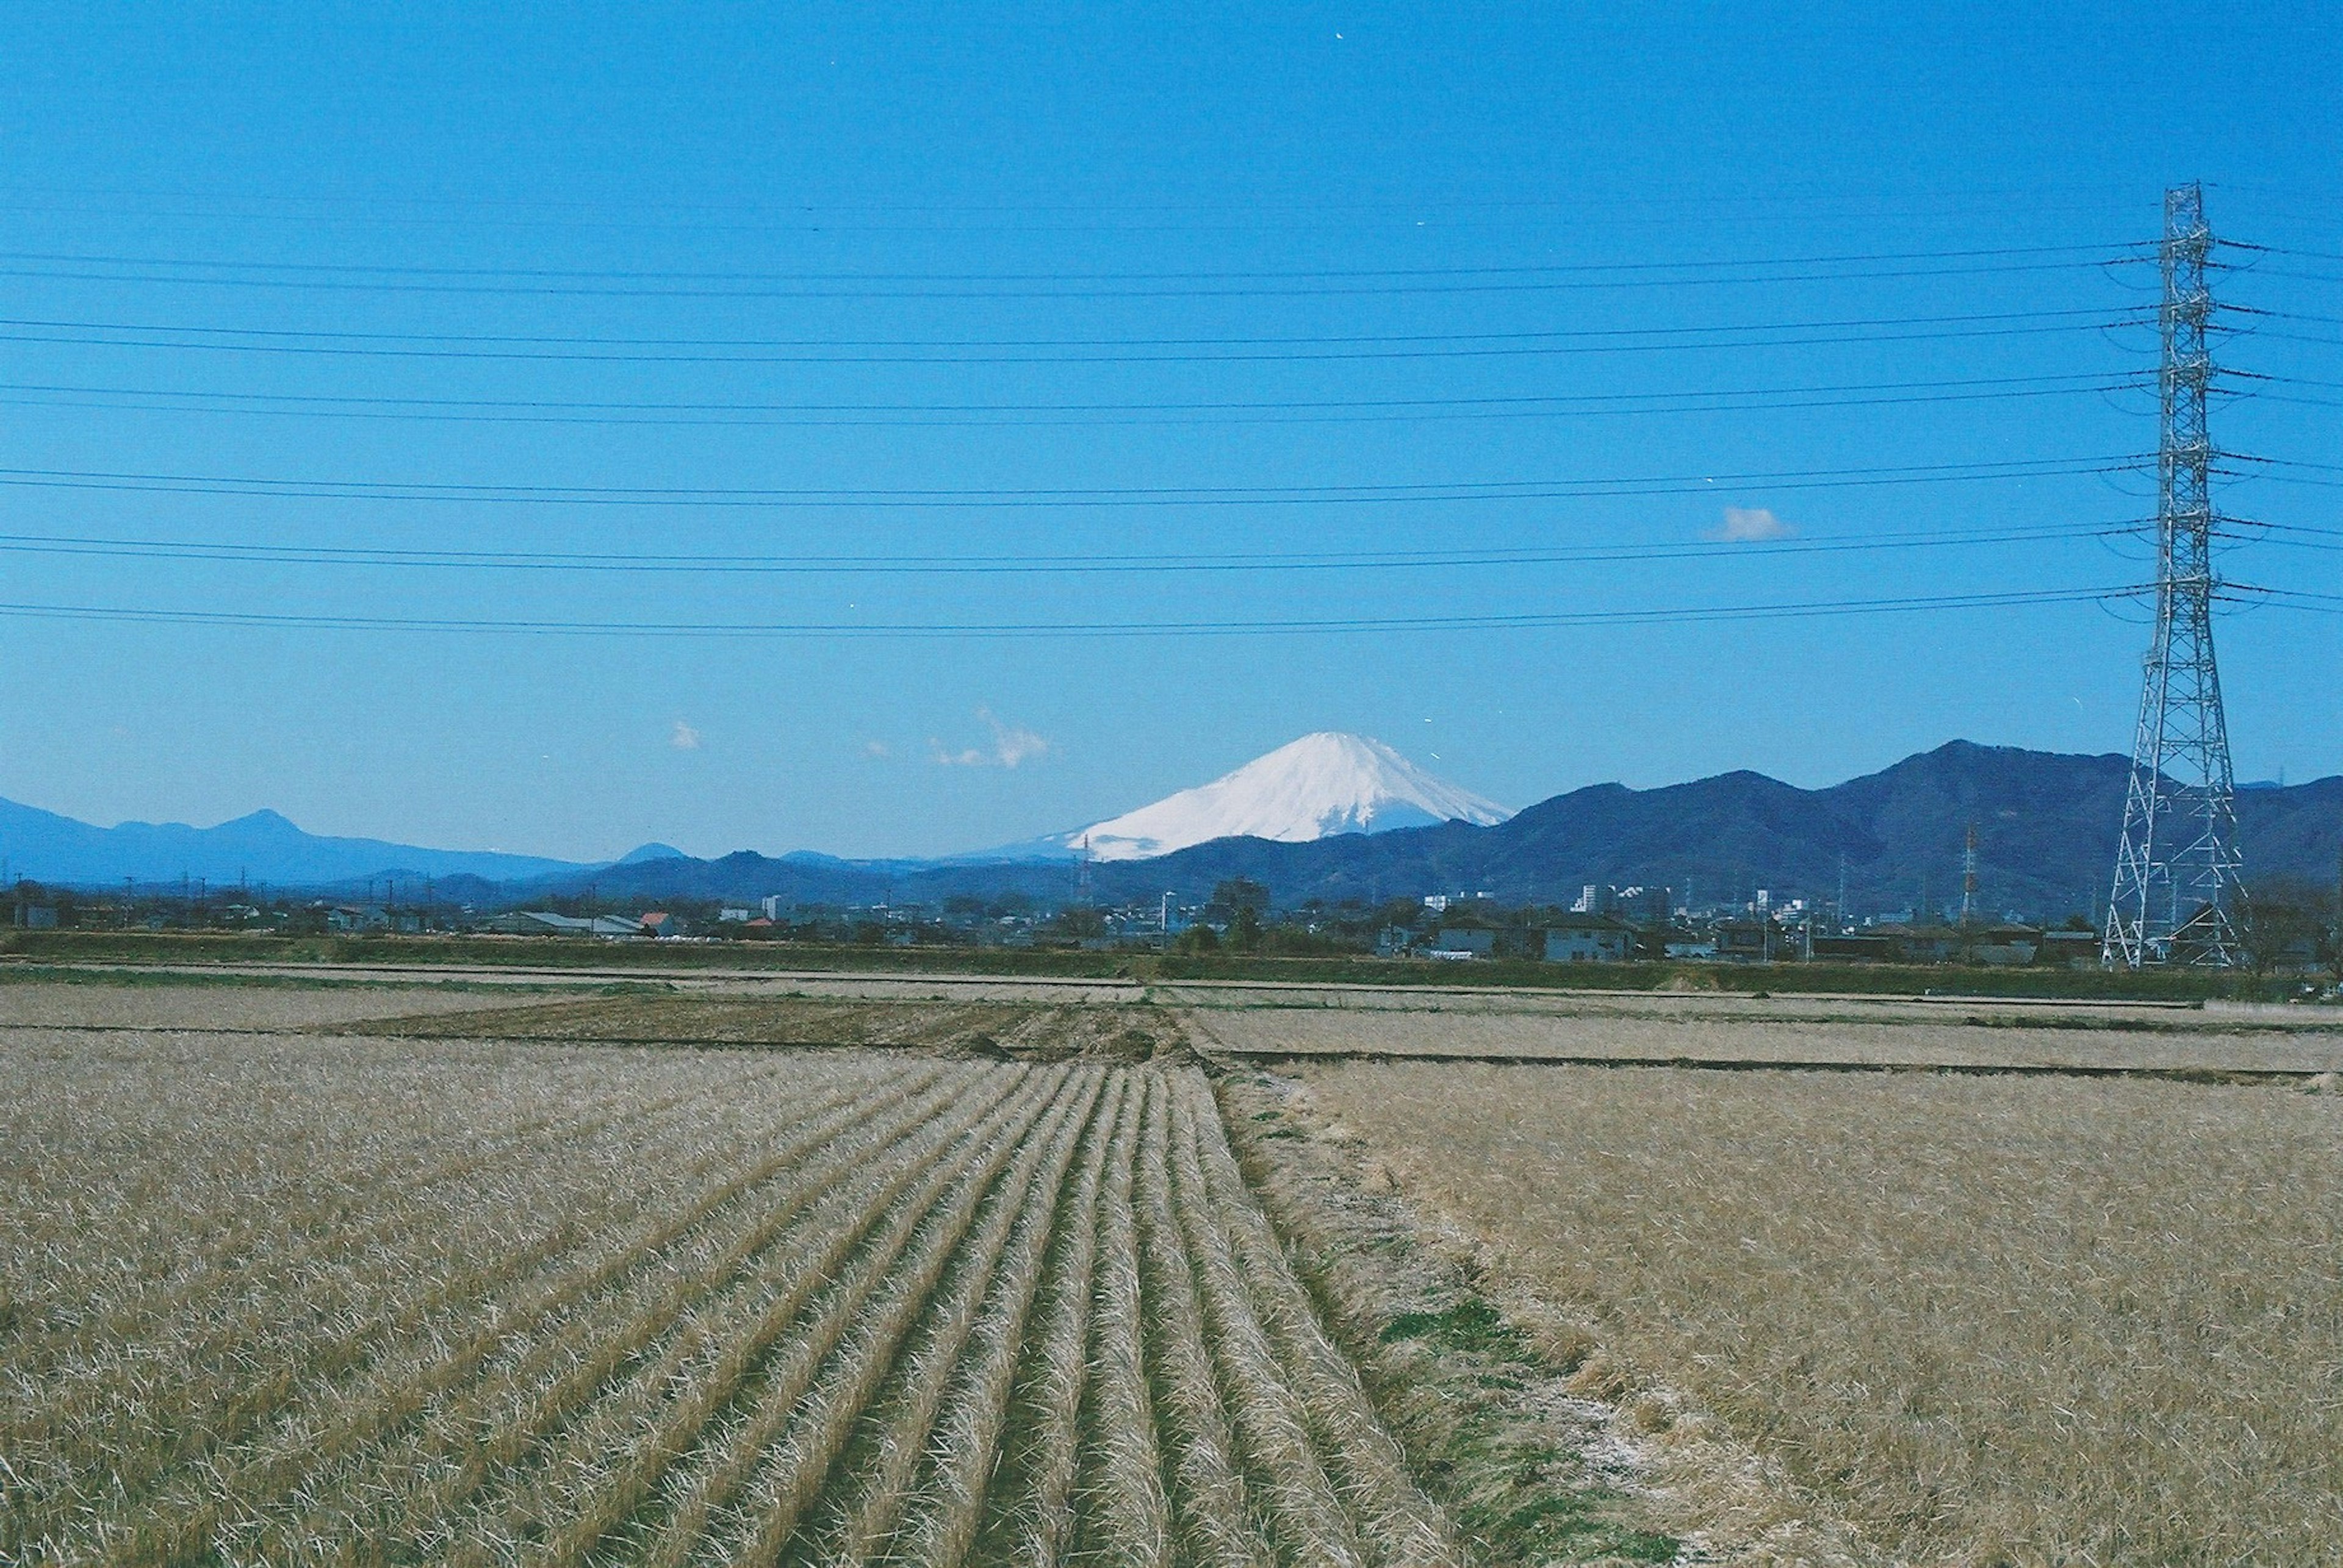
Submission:
<svg viewBox="0 0 2343 1568">
<path fill-rule="evenodd" d="M 75 978 L 7 1563 L 2343 1561 L 2315 1013 Z"/>
</svg>

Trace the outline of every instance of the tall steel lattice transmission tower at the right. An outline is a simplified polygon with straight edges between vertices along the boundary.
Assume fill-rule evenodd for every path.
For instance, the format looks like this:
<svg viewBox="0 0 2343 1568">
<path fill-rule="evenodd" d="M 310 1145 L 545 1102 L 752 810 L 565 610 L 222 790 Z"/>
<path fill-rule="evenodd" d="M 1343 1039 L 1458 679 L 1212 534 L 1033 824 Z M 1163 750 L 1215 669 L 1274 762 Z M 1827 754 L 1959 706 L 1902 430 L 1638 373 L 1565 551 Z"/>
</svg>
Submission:
<svg viewBox="0 0 2343 1568">
<path fill-rule="evenodd" d="M 2163 440 L 2156 475 L 2156 641 L 2139 695 L 2132 784 L 2123 800 L 2123 847 L 2106 901 L 2109 967 L 2209 964 L 2240 957 L 2238 807 L 2228 770 L 2221 672 L 2212 658 L 2212 438 L 2205 332 L 2212 293 L 2205 257 L 2205 192 L 2165 192 L 2163 239 Z"/>
</svg>

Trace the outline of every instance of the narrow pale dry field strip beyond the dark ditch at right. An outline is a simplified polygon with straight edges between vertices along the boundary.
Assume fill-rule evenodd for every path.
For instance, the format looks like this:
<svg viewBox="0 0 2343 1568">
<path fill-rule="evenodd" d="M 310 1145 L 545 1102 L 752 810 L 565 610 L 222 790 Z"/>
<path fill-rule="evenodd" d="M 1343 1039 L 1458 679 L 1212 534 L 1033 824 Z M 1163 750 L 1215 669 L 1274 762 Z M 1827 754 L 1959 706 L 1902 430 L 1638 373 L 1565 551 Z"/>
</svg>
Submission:
<svg viewBox="0 0 2343 1568">
<path fill-rule="evenodd" d="M 1963 1023 L 1914 1013 L 1895 1023 L 1771 1016 L 1621 1016 L 1614 1011 L 1225 1009 L 1193 1016 L 1204 1041 L 1246 1058 L 1572 1058 L 1645 1062 L 1830 1062 L 1849 1067 L 2081 1067 L 2149 1072 L 2334 1072 L 2343 1034 L 2207 1027 L 2198 1013 L 2163 1020 L 2071 1016 Z M 2193 1020 L 2195 1027 L 2184 1027 Z"/>
</svg>

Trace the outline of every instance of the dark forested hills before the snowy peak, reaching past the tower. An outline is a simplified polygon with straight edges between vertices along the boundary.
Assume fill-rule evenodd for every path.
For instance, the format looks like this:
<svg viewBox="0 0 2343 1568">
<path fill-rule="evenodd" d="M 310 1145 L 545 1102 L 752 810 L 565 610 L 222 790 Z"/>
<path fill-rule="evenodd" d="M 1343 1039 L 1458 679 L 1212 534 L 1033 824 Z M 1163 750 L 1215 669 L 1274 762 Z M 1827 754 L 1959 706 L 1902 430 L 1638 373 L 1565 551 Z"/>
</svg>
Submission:
<svg viewBox="0 0 2343 1568">
<path fill-rule="evenodd" d="M 1692 887 L 1699 901 L 1776 894 L 1835 896 L 1844 857 L 1849 901 L 1893 910 L 1959 899 L 1961 840 L 1977 824 L 1987 910 L 2059 917 L 2106 896 L 2123 819 L 2127 761 L 1952 742 L 1830 789 L 1727 772 L 1666 789 L 1596 784 L 1497 826 L 1446 824 L 1314 843 L 1223 838 L 1150 861 L 1101 864 L 1101 901 L 1200 899 L 1223 878 L 1265 882 L 1279 903 L 1488 892 L 1567 901 L 1584 882 Z M 2343 777 L 2238 793 L 2252 878 L 2331 885 L 2343 847 Z M 586 878 L 576 878 L 583 882 Z M 642 892 L 792 901 L 937 901 L 1007 889 L 1073 892 L 1064 864 L 911 866 L 818 857 L 731 854 L 644 861 L 593 873 L 600 894 Z"/>
</svg>

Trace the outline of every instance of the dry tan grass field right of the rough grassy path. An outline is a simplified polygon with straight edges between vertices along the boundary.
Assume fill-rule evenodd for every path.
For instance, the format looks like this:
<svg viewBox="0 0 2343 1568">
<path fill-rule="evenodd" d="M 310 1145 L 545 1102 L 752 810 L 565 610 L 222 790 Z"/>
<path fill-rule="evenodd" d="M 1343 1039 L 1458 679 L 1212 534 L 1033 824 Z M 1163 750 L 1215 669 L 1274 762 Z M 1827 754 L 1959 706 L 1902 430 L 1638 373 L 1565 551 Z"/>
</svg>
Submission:
<svg viewBox="0 0 2343 1568">
<path fill-rule="evenodd" d="M 1591 1329 L 1586 1390 L 1652 1430 L 1687 1390 L 1898 1556 L 2343 1561 L 2343 1098 L 1300 1077 L 1497 1275 Z"/>
</svg>

